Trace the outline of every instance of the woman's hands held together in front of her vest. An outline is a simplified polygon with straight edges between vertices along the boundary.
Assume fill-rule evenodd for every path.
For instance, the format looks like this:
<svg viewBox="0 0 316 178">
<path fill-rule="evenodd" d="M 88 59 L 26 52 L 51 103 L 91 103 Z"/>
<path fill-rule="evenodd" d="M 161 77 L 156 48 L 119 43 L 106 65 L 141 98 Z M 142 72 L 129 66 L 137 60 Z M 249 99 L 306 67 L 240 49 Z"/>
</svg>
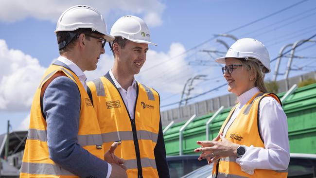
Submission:
<svg viewBox="0 0 316 178">
<path fill-rule="evenodd" d="M 219 139 L 222 142 L 218 142 Z M 197 141 L 196 143 L 202 146 L 194 150 L 194 152 L 202 152 L 199 160 L 207 158 L 209 163 L 221 157 L 237 156 L 237 148 L 239 147 L 239 144 L 226 140 L 222 133 L 219 133 L 213 141 Z"/>
</svg>

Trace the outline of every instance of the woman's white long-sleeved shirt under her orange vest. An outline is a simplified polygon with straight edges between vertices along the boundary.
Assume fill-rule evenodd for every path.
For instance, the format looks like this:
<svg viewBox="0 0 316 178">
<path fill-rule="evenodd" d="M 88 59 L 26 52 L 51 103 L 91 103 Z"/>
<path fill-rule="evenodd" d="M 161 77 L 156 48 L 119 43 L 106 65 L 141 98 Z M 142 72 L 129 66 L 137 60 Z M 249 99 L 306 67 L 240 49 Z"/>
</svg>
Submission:
<svg viewBox="0 0 316 178">
<path fill-rule="evenodd" d="M 230 121 L 224 128 L 223 134 L 227 133 L 228 127 L 236 119 L 241 108 L 259 91 L 252 88 L 237 97 L 237 105 Z M 264 148 L 247 147 L 243 157 L 236 162 L 246 173 L 253 173 L 255 169 L 285 170 L 287 169 L 290 153 L 287 132 L 287 118 L 281 105 L 272 97 L 264 97 L 259 108 L 260 133 L 263 137 Z"/>
</svg>

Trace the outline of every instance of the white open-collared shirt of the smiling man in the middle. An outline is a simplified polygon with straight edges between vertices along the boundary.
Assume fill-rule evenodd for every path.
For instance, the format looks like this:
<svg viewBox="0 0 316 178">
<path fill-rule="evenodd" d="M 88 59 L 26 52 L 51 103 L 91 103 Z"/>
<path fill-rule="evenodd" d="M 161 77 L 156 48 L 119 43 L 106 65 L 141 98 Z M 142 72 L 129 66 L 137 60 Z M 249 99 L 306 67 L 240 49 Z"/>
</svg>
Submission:
<svg viewBox="0 0 316 178">
<path fill-rule="evenodd" d="M 135 115 L 135 102 L 136 102 L 136 81 L 135 78 L 133 79 L 132 85 L 127 88 L 127 91 L 122 88 L 122 86 L 119 84 L 119 82 L 115 79 L 115 76 L 112 72 L 112 69 L 109 71 L 109 74 L 116 86 L 117 89 L 119 89 L 119 92 L 123 98 L 123 102 L 125 103 L 125 106 L 127 107 L 128 113 L 131 116 L 131 119 L 134 119 Z"/>
</svg>

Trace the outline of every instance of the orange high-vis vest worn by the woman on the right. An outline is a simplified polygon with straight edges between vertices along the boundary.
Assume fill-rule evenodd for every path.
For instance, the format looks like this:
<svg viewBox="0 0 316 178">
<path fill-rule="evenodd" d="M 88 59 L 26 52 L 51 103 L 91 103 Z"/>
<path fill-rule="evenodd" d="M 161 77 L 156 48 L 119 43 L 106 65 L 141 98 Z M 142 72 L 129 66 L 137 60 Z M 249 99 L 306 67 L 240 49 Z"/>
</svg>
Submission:
<svg viewBox="0 0 316 178">
<path fill-rule="evenodd" d="M 240 113 L 230 125 L 225 135 L 225 138 L 240 145 L 254 147 L 263 147 L 264 142 L 260 133 L 259 127 L 259 104 L 263 97 L 273 97 L 280 104 L 279 97 L 274 93 L 256 93 L 241 109 Z M 220 132 L 223 132 L 229 119 L 231 118 L 236 106 L 230 110 L 227 119 L 225 120 Z M 275 171 L 267 169 L 255 169 L 253 175 L 249 175 L 241 170 L 241 167 L 236 163 L 236 156 L 230 156 L 219 159 L 214 162 L 212 178 L 286 178 L 287 170 Z"/>
</svg>

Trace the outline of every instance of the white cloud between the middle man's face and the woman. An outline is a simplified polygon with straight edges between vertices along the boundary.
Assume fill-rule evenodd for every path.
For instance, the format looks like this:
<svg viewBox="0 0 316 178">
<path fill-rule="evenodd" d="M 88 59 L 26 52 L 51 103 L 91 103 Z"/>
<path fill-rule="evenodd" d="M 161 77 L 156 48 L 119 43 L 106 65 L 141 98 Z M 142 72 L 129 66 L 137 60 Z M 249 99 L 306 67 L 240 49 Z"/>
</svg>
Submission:
<svg viewBox="0 0 316 178">
<path fill-rule="evenodd" d="M 180 43 L 172 43 L 168 53 L 149 50 L 146 62 L 137 75 L 141 83 L 159 92 L 179 93 L 183 85 L 195 71 L 185 60 L 185 48 Z"/>
</svg>

